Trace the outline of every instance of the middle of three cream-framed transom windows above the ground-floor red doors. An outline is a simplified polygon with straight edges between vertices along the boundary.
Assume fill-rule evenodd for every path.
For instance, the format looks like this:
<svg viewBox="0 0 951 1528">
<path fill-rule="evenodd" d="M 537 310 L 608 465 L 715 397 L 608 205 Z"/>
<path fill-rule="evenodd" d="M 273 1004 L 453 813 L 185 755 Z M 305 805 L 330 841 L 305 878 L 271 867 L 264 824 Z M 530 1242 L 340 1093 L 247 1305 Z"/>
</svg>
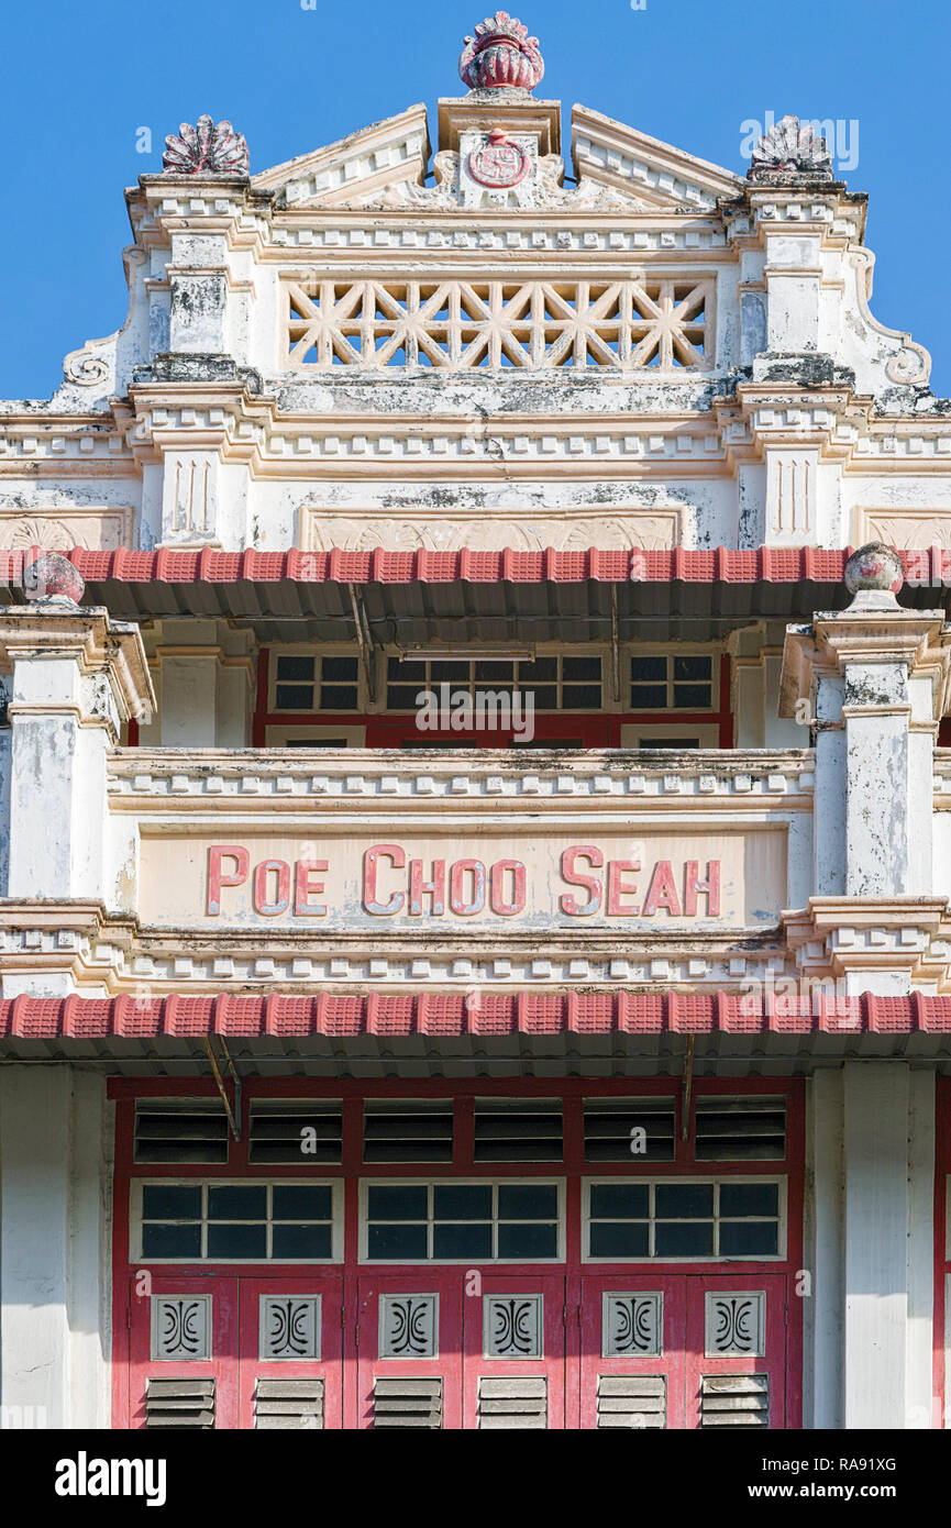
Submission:
<svg viewBox="0 0 951 1528">
<path fill-rule="evenodd" d="M 561 1256 L 558 1183 L 368 1183 L 367 1262 L 549 1262 Z"/>
</svg>

